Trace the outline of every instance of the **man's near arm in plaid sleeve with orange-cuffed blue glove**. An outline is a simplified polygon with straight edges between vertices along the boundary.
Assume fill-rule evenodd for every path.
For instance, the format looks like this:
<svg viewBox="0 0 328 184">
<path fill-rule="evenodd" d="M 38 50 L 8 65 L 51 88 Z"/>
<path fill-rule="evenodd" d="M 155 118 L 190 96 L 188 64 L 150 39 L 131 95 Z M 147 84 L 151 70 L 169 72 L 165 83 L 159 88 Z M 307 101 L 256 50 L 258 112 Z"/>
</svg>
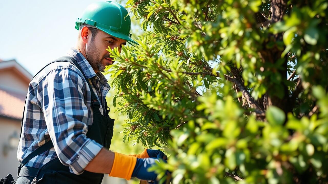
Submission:
<svg viewBox="0 0 328 184">
<path fill-rule="evenodd" d="M 55 152 L 60 161 L 70 167 L 71 173 L 78 175 L 87 170 L 128 180 L 131 177 L 156 180 L 157 175 L 148 172 L 148 168 L 158 159 L 113 153 L 86 137 L 89 115 L 84 102 L 86 89 L 75 71 L 53 70 L 37 88 L 36 96 Z"/>
</svg>

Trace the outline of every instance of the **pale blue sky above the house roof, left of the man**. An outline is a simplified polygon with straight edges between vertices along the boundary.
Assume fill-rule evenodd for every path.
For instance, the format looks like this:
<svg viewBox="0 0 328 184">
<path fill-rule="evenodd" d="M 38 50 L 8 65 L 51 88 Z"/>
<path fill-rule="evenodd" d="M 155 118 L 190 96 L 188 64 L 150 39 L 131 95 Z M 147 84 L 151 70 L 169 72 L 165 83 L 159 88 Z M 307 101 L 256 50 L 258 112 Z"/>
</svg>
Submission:
<svg viewBox="0 0 328 184">
<path fill-rule="evenodd" d="M 75 46 L 75 20 L 97 1 L 0 0 L 0 59 L 16 59 L 36 74 Z"/>
</svg>

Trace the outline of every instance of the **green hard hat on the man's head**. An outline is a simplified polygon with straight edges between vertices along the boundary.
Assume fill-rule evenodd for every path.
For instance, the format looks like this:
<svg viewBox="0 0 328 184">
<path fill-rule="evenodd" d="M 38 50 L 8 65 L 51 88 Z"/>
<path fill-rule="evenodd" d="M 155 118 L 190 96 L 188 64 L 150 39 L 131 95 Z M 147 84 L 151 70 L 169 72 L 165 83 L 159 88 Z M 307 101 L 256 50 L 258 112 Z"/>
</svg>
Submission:
<svg viewBox="0 0 328 184">
<path fill-rule="evenodd" d="M 130 44 L 138 43 L 131 39 L 131 19 L 128 11 L 119 3 L 103 1 L 89 5 L 75 22 L 78 30 L 81 24 L 94 26 L 107 34 L 126 40 Z"/>
</svg>

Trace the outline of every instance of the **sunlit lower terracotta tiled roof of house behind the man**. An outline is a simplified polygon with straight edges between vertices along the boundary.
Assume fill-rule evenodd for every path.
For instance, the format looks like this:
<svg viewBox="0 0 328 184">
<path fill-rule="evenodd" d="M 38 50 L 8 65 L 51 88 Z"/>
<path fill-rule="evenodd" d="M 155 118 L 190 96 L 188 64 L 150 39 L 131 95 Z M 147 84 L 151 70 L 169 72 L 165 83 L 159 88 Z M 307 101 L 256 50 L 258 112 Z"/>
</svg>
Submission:
<svg viewBox="0 0 328 184">
<path fill-rule="evenodd" d="M 24 110 L 25 96 L 0 89 L 0 115 L 21 119 Z"/>
</svg>

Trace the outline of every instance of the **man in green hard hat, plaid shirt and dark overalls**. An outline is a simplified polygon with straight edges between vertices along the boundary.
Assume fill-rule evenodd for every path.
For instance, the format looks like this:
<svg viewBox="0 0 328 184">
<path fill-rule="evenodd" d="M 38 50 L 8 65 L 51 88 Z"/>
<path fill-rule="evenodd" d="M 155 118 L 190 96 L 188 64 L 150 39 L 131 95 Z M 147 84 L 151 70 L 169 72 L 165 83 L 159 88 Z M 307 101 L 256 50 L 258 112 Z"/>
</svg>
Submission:
<svg viewBox="0 0 328 184">
<path fill-rule="evenodd" d="M 98 184 L 104 174 L 155 181 L 147 169 L 165 156 L 145 150 L 128 156 L 109 151 L 113 119 L 100 73 L 113 64 L 105 49 L 131 39 L 127 10 L 115 2 L 91 4 L 76 21 L 77 45 L 34 76 L 27 94 L 17 157 L 19 183 Z M 154 158 L 150 158 L 154 157 Z"/>
</svg>

